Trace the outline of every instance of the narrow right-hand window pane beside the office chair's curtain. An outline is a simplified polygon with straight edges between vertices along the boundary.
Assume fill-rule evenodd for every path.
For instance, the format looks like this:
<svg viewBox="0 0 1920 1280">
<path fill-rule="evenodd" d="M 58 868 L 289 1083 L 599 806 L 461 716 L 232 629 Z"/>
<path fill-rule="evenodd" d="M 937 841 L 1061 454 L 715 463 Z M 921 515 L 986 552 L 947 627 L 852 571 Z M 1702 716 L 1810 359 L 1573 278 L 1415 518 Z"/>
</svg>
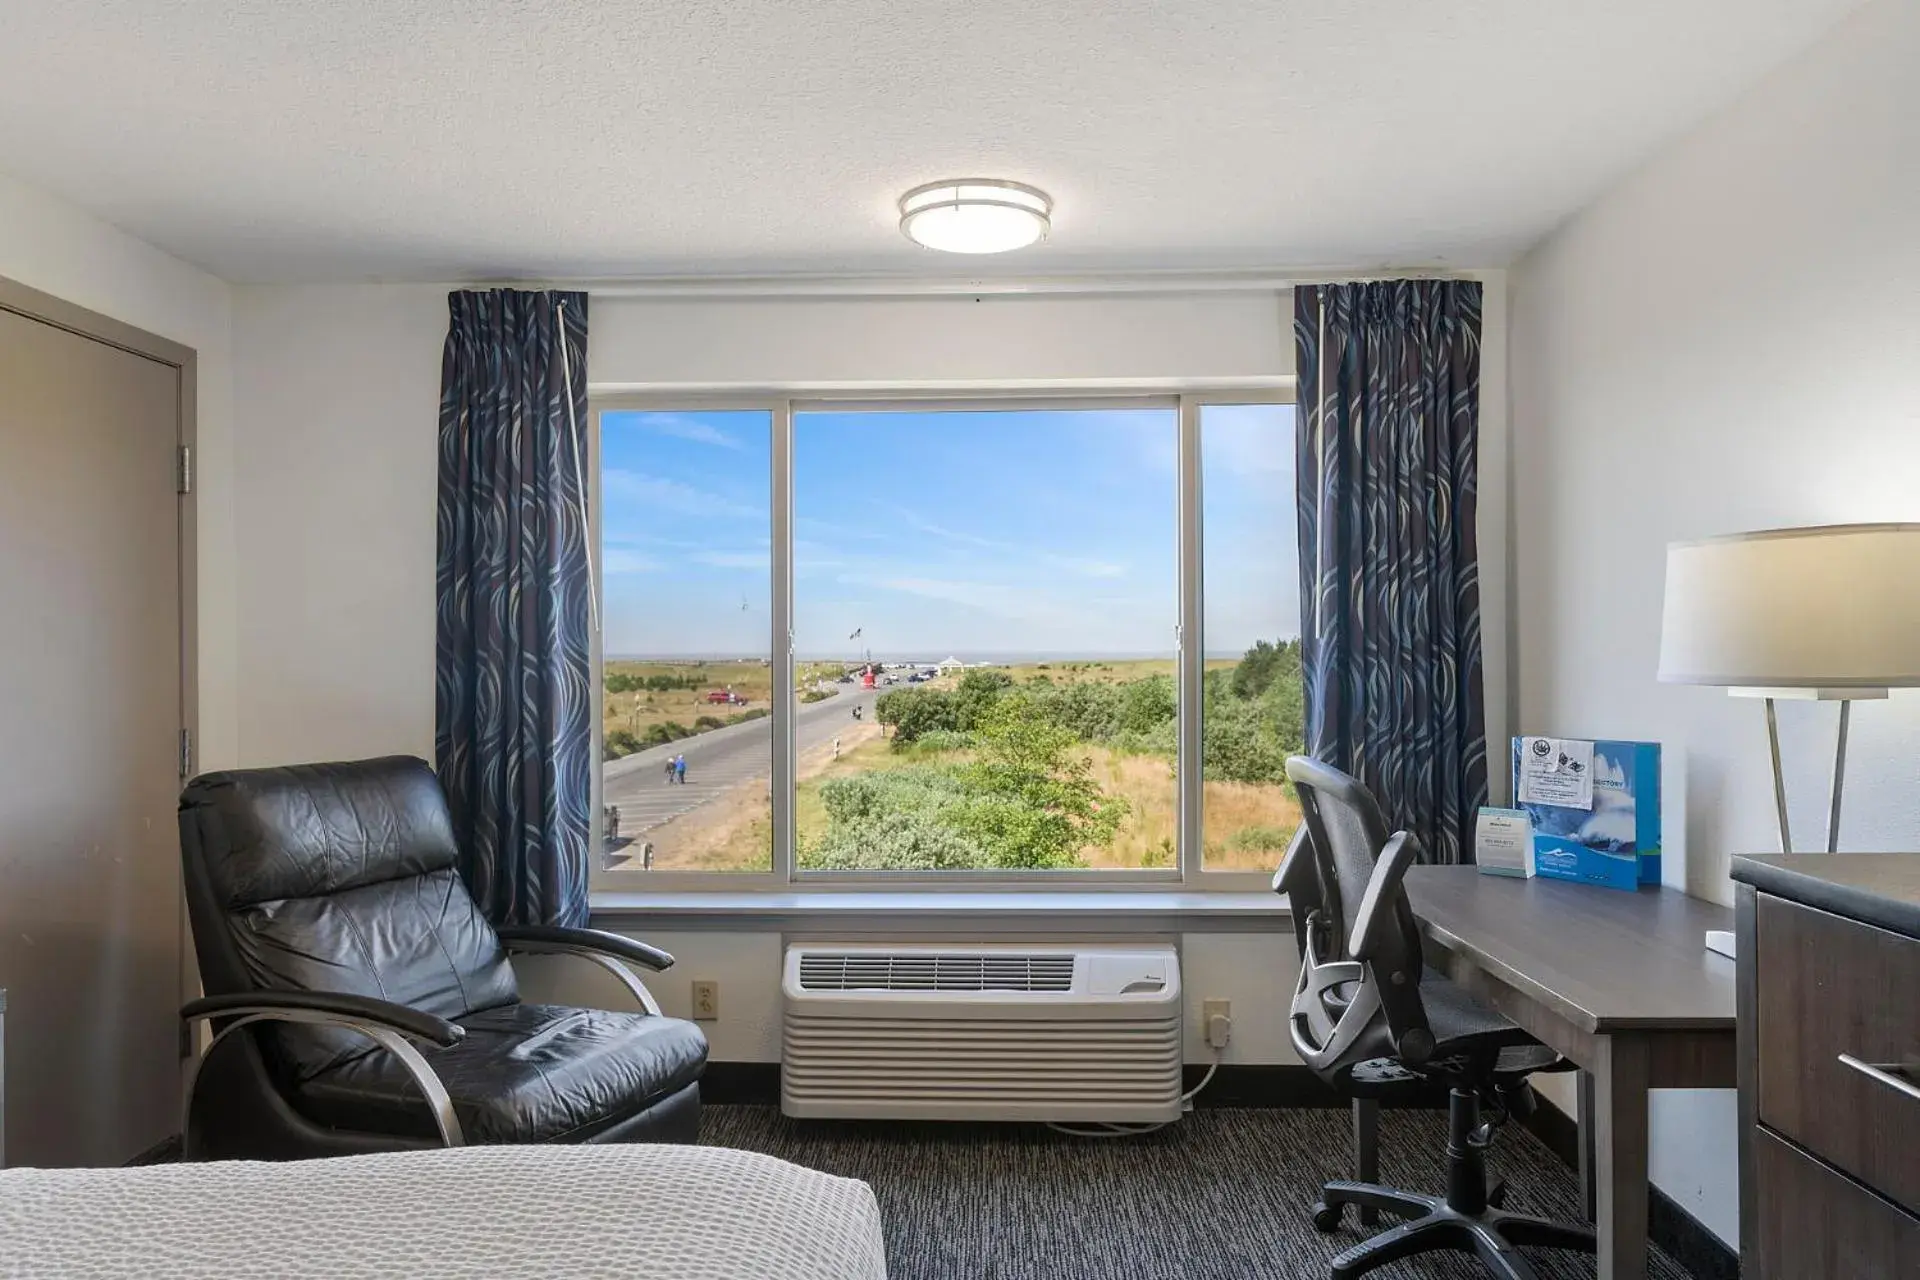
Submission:
<svg viewBox="0 0 1920 1280">
<path fill-rule="evenodd" d="M 1200 409 L 1204 854 L 1271 871 L 1300 825 L 1286 756 L 1306 739 L 1292 405 Z"/>
</svg>

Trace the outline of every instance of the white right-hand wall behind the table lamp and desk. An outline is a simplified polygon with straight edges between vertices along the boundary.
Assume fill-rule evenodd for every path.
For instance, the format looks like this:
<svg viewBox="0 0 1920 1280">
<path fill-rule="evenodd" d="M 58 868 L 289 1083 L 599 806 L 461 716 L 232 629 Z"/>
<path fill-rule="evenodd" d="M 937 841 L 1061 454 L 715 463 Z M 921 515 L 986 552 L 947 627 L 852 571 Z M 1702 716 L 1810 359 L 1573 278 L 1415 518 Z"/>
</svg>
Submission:
<svg viewBox="0 0 1920 1280">
<path fill-rule="evenodd" d="M 1882 0 L 1513 273 L 1519 718 L 1668 760 L 1667 879 L 1776 848 L 1761 708 L 1659 685 L 1665 545 L 1920 520 L 1920 6 Z M 1782 606 L 1791 606 L 1782 603 Z M 1834 708 L 1782 708 L 1818 848 Z M 1845 848 L 1920 848 L 1920 699 L 1862 702 Z M 1653 1176 L 1738 1238 L 1734 1096 L 1665 1094 Z"/>
</svg>

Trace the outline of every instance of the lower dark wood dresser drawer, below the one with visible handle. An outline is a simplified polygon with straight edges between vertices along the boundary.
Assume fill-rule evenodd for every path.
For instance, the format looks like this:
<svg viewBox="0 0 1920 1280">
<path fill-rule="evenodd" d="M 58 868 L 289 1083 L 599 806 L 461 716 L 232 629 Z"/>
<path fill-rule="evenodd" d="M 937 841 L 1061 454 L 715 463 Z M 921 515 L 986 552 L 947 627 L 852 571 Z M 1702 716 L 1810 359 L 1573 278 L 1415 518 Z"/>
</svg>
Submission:
<svg viewBox="0 0 1920 1280">
<path fill-rule="evenodd" d="M 1920 1219 L 1764 1128 L 1753 1130 L 1761 1280 L 1893 1280 L 1920 1259 Z"/>
</svg>

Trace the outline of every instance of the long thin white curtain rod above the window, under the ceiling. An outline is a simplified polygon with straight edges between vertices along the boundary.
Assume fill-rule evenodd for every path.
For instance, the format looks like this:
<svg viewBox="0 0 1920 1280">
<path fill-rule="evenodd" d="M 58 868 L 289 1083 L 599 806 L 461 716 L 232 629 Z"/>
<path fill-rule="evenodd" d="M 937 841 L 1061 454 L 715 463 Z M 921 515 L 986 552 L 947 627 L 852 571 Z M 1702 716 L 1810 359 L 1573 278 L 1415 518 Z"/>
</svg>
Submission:
<svg viewBox="0 0 1920 1280">
<path fill-rule="evenodd" d="M 1484 271 L 1135 271 L 1054 276 L 636 276 L 601 280 L 480 280 L 472 288 L 564 288 L 591 297 L 1021 297 L 1112 294 L 1279 294 L 1325 280 L 1467 280 Z"/>
</svg>

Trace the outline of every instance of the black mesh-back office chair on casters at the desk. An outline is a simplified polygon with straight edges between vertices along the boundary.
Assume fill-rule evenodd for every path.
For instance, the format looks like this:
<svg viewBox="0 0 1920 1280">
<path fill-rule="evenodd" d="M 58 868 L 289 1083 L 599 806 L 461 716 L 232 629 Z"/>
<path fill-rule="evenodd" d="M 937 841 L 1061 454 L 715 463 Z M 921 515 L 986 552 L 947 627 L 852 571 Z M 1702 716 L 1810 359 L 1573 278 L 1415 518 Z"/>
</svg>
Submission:
<svg viewBox="0 0 1920 1280">
<path fill-rule="evenodd" d="M 1526 1077 L 1565 1071 L 1553 1050 L 1427 969 L 1421 929 L 1402 889 L 1419 841 L 1386 833 L 1359 781 L 1292 756 L 1286 777 L 1306 823 L 1273 887 L 1288 894 L 1300 942 L 1300 984 L 1288 1029 L 1294 1050 L 1350 1098 L 1394 1100 L 1448 1088 L 1448 1186 L 1419 1196 L 1371 1182 L 1329 1182 L 1313 1226 L 1338 1230 L 1346 1205 L 1405 1219 L 1340 1253 L 1331 1280 L 1440 1249 L 1475 1253 L 1501 1280 L 1538 1280 L 1519 1245 L 1594 1253 L 1588 1226 L 1500 1207 L 1486 1186 L 1486 1148 L 1509 1117 L 1532 1107 Z"/>
</svg>

